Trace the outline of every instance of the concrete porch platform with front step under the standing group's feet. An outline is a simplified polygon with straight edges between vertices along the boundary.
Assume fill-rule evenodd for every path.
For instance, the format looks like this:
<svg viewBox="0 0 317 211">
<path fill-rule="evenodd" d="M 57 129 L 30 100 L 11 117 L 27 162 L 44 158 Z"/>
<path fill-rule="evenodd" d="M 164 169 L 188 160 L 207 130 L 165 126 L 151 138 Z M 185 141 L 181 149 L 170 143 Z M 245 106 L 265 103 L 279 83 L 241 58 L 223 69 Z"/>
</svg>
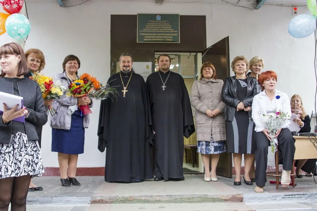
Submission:
<svg viewBox="0 0 317 211">
<path fill-rule="evenodd" d="M 204 175 L 186 175 L 184 181 L 144 181 L 107 183 L 103 177 L 77 177 L 81 186 L 61 187 L 59 177 L 34 178 L 43 191 L 29 192 L 28 204 L 159 204 L 221 202 L 301 202 L 315 201 L 317 185 L 311 178 L 298 179 L 295 188 L 275 189 L 267 184 L 264 193 L 254 185 L 233 185 L 233 179 L 218 177 L 204 182 Z"/>
</svg>

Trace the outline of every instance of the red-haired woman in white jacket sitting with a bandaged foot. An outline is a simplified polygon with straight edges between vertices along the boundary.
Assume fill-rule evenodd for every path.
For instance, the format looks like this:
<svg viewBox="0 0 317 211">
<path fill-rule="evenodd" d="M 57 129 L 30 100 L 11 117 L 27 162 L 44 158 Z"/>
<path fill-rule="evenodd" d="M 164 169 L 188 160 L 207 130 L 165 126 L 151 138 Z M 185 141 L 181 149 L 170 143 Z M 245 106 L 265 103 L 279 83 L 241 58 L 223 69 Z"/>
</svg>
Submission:
<svg viewBox="0 0 317 211">
<path fill-rule="evenodd" d="M 252 103 L 252 119 L 256 124 L 254 134 L 256 142 L 256 188 L 257 193 L 262 193 L 265 186 L 266 167 L 268 164 L 268 146 L 270 146 L 271 136 L 268 134 L 268 128 L 262 123 L 261 116 L 274 112 L 274 109 L 291 113 L 288 96 L 275 89 L 277 75 L 274 71 L 266 71 L 259 76 L 262 92 L 254 96 Z M 293 167 L 295 145 L 293 136 L 288 129 L 290 121 L 286 121 L 280 129 L 277 130 L 275 137 L 279 142 L 279 149 L 283 158 L 283 170 L 281 184 L 283 188 L 288 187 L 291 177 L 290 173 Z"/>
</svg>

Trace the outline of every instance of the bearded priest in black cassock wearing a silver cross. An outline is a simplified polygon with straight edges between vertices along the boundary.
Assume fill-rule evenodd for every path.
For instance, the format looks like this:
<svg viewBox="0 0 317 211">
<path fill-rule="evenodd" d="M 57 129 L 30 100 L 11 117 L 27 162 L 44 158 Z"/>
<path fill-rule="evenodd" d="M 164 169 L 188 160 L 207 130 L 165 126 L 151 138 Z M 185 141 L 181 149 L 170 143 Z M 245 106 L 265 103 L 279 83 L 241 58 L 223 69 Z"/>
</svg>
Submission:
<svg viewBox="0 0 317 211">
<path fill-rule="evenodd" d="M 171 58 L 158 57 L 159 71 L 149 75 L 146 86 L 152 111 L 154 180 L 183 180 L 184 137 L 195 132 L 184 79 L 169 70 Z"/>
</svg>

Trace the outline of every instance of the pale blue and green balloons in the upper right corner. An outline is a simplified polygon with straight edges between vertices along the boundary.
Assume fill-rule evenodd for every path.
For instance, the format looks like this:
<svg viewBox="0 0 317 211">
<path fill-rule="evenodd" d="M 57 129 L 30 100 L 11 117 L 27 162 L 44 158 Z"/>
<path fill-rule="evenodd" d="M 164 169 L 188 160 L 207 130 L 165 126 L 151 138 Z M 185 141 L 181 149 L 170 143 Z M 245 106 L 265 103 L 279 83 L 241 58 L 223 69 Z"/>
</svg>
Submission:
<svg viewBox="0 0 317 211">
<path fill-rule="evenodd" d="M 295 38 L 304 38 L 316 30 L 316 0 L 307 0 L 307 7 L 313 15 L 295 16 L 288 25 L 288 33 Z"/>
</svg>

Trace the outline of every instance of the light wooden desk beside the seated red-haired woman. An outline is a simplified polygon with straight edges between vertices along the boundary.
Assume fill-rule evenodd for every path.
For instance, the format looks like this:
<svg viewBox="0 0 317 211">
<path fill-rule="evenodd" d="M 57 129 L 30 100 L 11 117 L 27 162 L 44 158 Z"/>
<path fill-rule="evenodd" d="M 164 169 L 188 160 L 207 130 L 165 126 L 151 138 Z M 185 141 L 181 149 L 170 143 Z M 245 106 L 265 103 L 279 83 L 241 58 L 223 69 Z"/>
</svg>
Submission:
<svg viewBox="0 0 317 211">
<path fill-rule="evenodd" d="M 295 155 L 294 160 L 317 158 L 317 144 L 315 146 L 307 136 L 293 136 L 295 138 Z M 317 137 L 313 137 L 317 139 Z"/>
</svg>

